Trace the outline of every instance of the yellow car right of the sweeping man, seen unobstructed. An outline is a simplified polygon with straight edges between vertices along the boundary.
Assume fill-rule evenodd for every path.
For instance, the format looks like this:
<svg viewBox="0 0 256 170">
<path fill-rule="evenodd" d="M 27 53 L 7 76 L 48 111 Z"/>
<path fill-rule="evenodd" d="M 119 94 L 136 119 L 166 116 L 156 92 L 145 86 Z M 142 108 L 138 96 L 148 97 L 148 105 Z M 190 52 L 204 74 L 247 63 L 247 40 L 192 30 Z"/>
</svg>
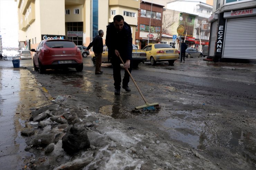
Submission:
<svg viewBox="0 0 256 170">
<path fill-rule="evenodd" d="M 143 48 L 147 53 L 147 61 L 154 66 L 157 61 L 168 61 L 173 65 L 174 61 L 179 58 L 179 51 L 165 43 L 149 44 Z"/>
</svg>

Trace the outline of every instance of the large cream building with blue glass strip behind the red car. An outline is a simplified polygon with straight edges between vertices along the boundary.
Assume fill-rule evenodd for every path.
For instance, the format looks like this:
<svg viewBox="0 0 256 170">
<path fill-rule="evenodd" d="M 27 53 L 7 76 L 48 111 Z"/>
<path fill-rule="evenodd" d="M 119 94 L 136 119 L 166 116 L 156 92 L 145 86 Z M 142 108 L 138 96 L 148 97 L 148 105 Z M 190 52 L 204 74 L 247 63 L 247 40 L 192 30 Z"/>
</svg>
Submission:
<svg viewBox="0 0 256 170">
<path fill-rule="evenodd" d="M 88 46 L 98 30 L 105 32 L 117 14 L 135 32 L 138 0 L 15 0 L 18 6 L 20 49 L 36 48 L 43 39 L 70 39 Z M 103 43 L 105 42 L 103 37 Z"/>
</svg>

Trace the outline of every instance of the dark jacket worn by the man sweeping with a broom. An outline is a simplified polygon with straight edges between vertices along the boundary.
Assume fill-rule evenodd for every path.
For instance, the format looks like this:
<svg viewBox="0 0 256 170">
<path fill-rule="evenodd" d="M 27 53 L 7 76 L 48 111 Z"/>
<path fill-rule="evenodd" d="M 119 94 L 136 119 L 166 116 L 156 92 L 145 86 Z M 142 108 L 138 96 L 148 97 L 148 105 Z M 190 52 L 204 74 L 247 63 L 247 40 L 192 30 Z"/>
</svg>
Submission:
<svg viewBox="0 0 256 170">
<path fill-rule="evenodd" d="M 132 60 L 132 37 L 131 27 L 124 22 L 121 31 L 117 31 L 114 22 L 107 26 L 106 45 L 108 46 L 108 60 L 117 59 L 115 50 L 118 50 L 121 58 L 124 60 Z"/>
</svg>

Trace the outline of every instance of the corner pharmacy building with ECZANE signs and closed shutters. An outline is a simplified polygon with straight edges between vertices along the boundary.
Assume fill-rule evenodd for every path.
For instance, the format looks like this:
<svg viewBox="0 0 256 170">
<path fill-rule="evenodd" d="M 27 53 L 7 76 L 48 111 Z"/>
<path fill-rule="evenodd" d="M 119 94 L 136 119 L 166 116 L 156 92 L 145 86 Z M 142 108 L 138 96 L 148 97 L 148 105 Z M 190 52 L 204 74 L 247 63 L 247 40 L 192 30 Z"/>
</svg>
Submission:
<svg viewBox="0 0 256 170">
<path fill-rule="evenodd" d="M 209 59 L 256 60 L 255 0 L 216 0 L 209 22 Z"/>
</svg>

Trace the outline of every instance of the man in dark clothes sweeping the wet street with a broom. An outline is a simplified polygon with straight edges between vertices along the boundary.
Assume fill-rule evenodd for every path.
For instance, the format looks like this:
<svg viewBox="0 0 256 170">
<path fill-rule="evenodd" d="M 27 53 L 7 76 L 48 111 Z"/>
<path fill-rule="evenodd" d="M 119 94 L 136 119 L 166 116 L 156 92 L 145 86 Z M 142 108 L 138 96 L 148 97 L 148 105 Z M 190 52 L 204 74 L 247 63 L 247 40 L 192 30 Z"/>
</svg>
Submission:
<svg viewBox="0 0 256 170">
<path fill-rule="evenodd" d="M 113 78 L 115 86 L 115 94 L 120 94 L 121 89 L 121 67 L 120 59 L 124 61 L 125 76 L 122 82 L 122 88 L 125 91 L 130 92 L 131 89 L 128 86 L 129 72 L 132 70 L 132 37 L 131 27 L 124 21 L 124 17 L 116 15 L 113 18 L 113 22 L 107 26 L 106 45 L 108 46 L 108 60 L 111 61 L 113 67 Z"/>
</svg>

